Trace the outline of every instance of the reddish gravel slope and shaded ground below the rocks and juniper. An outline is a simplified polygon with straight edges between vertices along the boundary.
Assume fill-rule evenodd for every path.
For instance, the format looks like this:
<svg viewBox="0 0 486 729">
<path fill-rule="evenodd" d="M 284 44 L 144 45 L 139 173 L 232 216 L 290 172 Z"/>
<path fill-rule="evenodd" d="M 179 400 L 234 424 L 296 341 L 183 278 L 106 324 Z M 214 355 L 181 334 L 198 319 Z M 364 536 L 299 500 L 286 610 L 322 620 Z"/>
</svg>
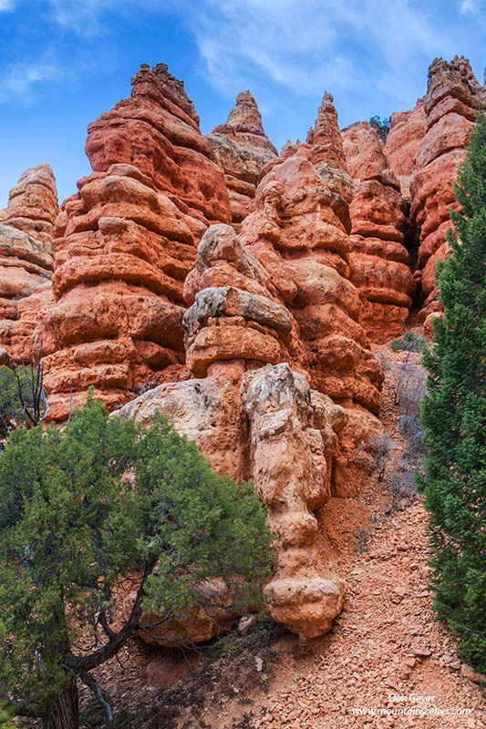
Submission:
<svg viewBox="0 0 486 729">
<path fill-rule="evenodd" d="M 400 363 L 405 355 L 391 356 Z M 382 417 L 399 451 L 395 386 L 388 370 Z M 115 725 L 486 727 L 484 688 L 460 662 L 450 632 L 431 610 L 421 501 L 408 498 L 391 506 L 387 479 L 377 477 L 358 498 L 326 505 L 320 519 L 323 549 L 339 561 L 347 597 L 325 637 L 299 646 L 295 636 L 262 618 L 246 636 L 233 631 L 201 655 L 181 657 L 133 640 L 119 662 L 100 670 L 100 683 L 112 695 Z M 157 681 L 172 685 L 148 685 Z M 83 729 L 103 725 L 98 705 L 88 697 L 84 717 Z"/>
</svg>

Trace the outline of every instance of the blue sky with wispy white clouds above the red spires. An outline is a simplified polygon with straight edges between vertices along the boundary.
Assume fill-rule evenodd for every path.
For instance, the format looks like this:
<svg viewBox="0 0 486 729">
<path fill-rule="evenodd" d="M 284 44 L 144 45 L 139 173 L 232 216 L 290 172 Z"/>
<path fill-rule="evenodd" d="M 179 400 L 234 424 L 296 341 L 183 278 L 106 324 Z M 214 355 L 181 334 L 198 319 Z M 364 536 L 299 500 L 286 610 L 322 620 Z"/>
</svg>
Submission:
<svg viewBox="0 0 486 729">
<path fill-rule="evenodd" d="M 207 133 L 250 88 L 280 149 L 305 139 L 324 90 L 342 127 L 414 106 L 435 56 L 482 81 L 486 0 L 0 0 L 0 208 L 47 161 L 59 197 L 90 171 L 88 123 L 164 61 Z"/>
</svg>

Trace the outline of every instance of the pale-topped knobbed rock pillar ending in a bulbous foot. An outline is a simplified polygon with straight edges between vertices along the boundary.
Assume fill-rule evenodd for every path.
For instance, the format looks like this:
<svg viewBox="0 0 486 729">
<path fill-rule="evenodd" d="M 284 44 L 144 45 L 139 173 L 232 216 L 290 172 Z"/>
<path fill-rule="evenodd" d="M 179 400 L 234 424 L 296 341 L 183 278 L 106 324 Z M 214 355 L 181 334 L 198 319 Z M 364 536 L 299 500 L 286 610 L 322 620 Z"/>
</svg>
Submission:
<svg viewBox="0 0 486 729">
<path fill-rule="evenodd" d="M 253 483 L 277 537 L 274 575 L 264 588 L 265 610 L 302 638 L 315 638 L 330 630 L 345 596 L 344 581 L 321 562 L 313 512 L 330 496 L 329 461 L 336 450 L 331 422 L 338 430 L 346 416 L 326 398 L 321 407 L 335 414 L 319 419 L 308 383 L 288 364 L 246 373 L 242 400 Z"/>
</svg>

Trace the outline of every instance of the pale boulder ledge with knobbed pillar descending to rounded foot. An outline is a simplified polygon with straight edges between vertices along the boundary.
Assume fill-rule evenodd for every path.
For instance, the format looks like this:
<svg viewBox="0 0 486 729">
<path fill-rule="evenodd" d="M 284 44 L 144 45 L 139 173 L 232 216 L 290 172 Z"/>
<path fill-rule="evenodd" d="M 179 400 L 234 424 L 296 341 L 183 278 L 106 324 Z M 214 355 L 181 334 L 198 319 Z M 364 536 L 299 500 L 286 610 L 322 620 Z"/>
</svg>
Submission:
<svg viewBox="0 0 486 729">
<path fill-rule="evenodd" d="M 221 374 L 160 385 L 114 415 L 150 423 L 156 411 L 194 440 L 219 473 L 253 479 L 276 537 L 277 566 L 264 591 L 265 609 L 302 637 L 328 631 L 342 608 L 344 582 L 329 574 L 318 554 L 313 512 L 331 494 L 344 409 L 311 391 L 305 377 L 284 363 L 246 372 L 241 387 Z M 201 642 L 231 615 L 229 607 L 215 613 L 211 626 L 206 613 L 192 611 L 158 631 L 169 644 L 189 634 Z M 153 616 L 143 620 L 157 622 Z"/>
</svg>

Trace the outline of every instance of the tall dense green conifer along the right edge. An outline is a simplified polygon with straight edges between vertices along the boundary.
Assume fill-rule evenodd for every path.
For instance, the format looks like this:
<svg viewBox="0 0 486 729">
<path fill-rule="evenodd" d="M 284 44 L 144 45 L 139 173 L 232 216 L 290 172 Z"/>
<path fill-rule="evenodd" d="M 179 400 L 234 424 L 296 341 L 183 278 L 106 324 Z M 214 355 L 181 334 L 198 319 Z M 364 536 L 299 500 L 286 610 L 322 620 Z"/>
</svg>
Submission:
<svg viewBox="0 0 486 729">
<path fill-rule="evenodd" d="M 443 318 L 424 354 L 422 425 L 439 618 L 461 656 L 486 672 L 486 118 L 478 115 L 451 211 L 450 258 L 438 267 Z"/>
</svg>

